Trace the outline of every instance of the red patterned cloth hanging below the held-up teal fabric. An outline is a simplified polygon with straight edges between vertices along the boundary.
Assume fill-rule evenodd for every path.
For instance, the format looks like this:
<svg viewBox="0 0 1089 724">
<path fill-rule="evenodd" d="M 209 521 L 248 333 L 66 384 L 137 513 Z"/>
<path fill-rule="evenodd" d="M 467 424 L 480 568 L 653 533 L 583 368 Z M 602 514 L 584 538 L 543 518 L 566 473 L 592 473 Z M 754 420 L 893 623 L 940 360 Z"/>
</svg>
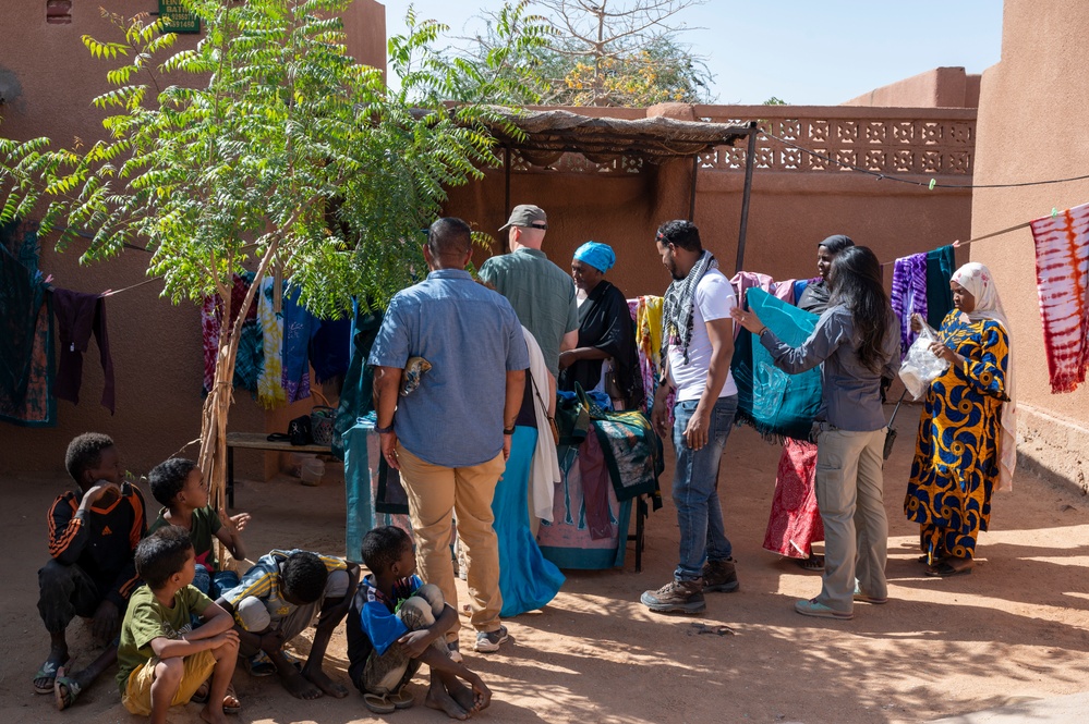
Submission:
<svg viewBox="0 0 1089 724">
<path fill-rule="evenodd" d="M 808 559 L 814 541 L 824 540 L 824 524 L 816 507 L 816 445 L 787 438 L 775 476 L 772 515 L 764 548 L 789 559 Z"/>
</svg>

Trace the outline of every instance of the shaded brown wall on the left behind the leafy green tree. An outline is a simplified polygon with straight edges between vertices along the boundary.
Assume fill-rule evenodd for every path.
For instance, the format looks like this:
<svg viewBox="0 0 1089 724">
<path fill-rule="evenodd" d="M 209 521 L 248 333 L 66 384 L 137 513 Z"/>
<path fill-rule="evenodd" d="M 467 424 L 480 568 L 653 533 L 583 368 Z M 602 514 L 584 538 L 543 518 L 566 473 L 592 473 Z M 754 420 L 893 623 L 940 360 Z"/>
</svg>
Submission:
<svg viewBox="0 0 1089 724">
<path fill-rule="evenodd" d="M 125 15 L 157 9 L 155 0 L 118 0 L 110 9 Z M 48 136 L 69 146 L 78 136 L 89 143 L 102 133 L 101 114 L 90 99 L 108 88 L 111 65 L 90 58 L 80 41 L 84 34 L 109 40 L 111 28 L 96 3 L 73 3 L 71 24 L 47 24 L 46 3 L 4 3 L 0 42 L 0 87 L 20 88 L 17 98 L 0 105 L 0 134 L 9 138 Z M 346 19 L 352 51 L 365 62 L 385 65 L 385 8 L 374 0 L 356 0 Z M 176 46 L 192 47 L 196 36 L 181 36 Z M 82 249 L 53 250 L 53 240 L 41 240 L 40 268 L 53 283 L 77 292 L 102 292 L 144 281 L 147 255 L 128 250 L 108 262 L 81 267 Z M 58 401 L 59 425 L 51 429 L 0 428 L 0 475 L 45 473 L 63 475 L 64 449 L 88 430 L 112 435 L 125 465 L 145 473 L 194 440 L 201 430 L 203 356 L 201 321 L 195 306 L 174 307 L 159 298 L 154 282 L 106 300 L 110 348 L 117 379 L 117 414 L 98 404 L 102 373 L 92 343 L 84 359 L 80 404 Z M 240 391 L 231 412 L 232 430 L 281 430 L 291 417 L 310 408 L 308 401 L 268 416 Z M 266 425 L 268 426 L 266 428 Z M 189 454 L 195 455 L 195 446 Z M 240 473 L 256 475 L 276 461 L 261 453 L 240 452 Z"/>
</svg>

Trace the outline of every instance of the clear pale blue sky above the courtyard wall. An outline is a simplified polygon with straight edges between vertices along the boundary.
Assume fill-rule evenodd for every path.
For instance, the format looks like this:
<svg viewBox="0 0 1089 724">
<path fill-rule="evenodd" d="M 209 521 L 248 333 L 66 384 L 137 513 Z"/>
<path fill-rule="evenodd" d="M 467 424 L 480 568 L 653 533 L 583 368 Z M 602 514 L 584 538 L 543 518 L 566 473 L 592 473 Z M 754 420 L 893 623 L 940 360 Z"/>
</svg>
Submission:
<svg viewBox="0 0 1089 724">
<path fill-rule="evenodd" d="M 480 10 L 501 0 L 379 0 L 386 33 L 420 19 L 472 34 Z M 622 0 L 619 0 L 622 2 Z M 479 10 L 480 9 L 480 10 Z M 836 106 L 939 66 L 982 73 L 1002 50 L 1002 0 L 707 0 L 675 16 L 681 40 L 706 57 L 718 103 Z M 390 78 L 392 82 L 392 78 Z"/>
</svg>

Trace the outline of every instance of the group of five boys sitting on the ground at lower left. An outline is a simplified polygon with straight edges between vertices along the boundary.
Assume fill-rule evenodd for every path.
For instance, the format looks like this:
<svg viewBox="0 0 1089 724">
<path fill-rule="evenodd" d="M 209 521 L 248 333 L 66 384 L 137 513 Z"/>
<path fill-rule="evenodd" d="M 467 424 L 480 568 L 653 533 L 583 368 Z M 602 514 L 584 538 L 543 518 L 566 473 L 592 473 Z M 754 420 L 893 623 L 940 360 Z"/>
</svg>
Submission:
<svg viewBox="0 0 1089 724">
<path fill-rule="evenodd" d="M 346 616 L 348 673 L 371 711 L 411 707 L 404 685 L 421 663 L 431 666 L 428 707 L 463 720 L 488 705 L 481 677 L 450 658 L 445 636 L 460 625 L 457 613 L 415 575 L 415 545 L 403 530 L 367 533 L 362 559 L 371 573 L 362 581 L 355 564 L 299 550 L 271 551 L 240 580 L 219 569 L 213 537 L 243 559 L 240 533 L 250 516 L 211 508 L 192 461 L 171 458 L 148 475 L 164 506 L 149 530 L 143 495 L 124 480 L 109 437 L 75 438 L 65 466 L 80 491 L 59 496 L 49 513 L 52 557 L 38 572 L 38 611 L 51 645 L 34 677 L 35 691 L 52 694 L 58 709 L 117 661 L 130 712 L 166 722 L 171 705 L 192 700 L 205 704 L 202 719 L 223 722 L 241 711 L 231 684 L 240 654 L 251 674 L 278 675 L 298 698 L 343 698 L 348 690 L 322 666 Z M 64 631 L 75 616 L 92 619 L 105 648 L 69 675 Z M 283 646 L 315 617 L 302 662 Z"/>
</svg>

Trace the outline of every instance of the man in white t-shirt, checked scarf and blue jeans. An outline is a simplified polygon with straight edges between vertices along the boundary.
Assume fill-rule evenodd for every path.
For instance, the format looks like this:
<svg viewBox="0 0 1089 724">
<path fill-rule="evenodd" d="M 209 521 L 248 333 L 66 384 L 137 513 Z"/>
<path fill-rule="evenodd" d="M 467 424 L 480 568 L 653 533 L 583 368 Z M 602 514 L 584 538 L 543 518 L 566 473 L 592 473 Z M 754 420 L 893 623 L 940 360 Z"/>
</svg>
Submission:
<svg viewBox="0 0 1089 724">
<path fill-rule="evenodd" d="M 714 256 L 689 221 L 669 221 L 657 232 L 662 263 L 673 274 L 663 309 L 662 375 L 651 421 L 668 432 L 666 398 L 677 392 L 673 444 L 677 457 L 673 501 L 680 526 L 680 562 L 674 579 L 640 598 L 651 611 L 698 613 L 704 591 L 736 591 L 737 572 L 718 502 L 718 465 L 737 412 L 730 309 L 737 298 Z"/>
</svg>

